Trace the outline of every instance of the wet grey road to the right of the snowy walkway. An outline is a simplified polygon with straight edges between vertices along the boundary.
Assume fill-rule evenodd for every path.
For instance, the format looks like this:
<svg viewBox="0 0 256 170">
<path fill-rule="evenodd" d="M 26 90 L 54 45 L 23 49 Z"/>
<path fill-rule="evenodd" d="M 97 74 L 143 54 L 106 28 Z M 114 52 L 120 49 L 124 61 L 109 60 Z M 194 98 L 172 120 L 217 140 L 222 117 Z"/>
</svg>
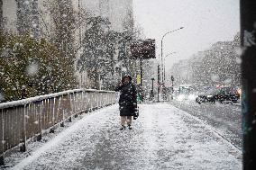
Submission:
<svg viewBox="0 0 256 170">
<path fill-rule="evenodd" d="M 224 139 L 242 150 L 241 106 L 228 103 L 198 104 L 194 101 L 171 101 L 170 103 L 205 121 Z"/>
</svg>

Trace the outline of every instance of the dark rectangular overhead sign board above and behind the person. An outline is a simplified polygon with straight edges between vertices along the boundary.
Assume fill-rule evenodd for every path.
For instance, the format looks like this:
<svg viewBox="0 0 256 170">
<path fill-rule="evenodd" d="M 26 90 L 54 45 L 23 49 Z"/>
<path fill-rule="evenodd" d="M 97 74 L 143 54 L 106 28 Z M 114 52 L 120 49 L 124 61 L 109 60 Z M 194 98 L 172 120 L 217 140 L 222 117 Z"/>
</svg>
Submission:
<svg viewBox="0 0 256 170">
<path fill-rule="evenodd" d="M 150 59 L 156 58 L 156 45 L 155 40 L 135 40 L 130 46 L 132 58 L 135 59 Z"/>
</svg>

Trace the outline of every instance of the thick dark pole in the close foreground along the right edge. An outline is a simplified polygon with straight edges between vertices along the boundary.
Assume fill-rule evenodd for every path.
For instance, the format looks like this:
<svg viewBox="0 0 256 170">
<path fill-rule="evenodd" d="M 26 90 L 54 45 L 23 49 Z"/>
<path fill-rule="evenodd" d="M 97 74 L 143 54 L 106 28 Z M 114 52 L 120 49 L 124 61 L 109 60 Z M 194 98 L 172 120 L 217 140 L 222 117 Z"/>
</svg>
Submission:
<svg viewBox="0 0 256 170">
<path fill-rule="evenodd" d="M 243 170 L 256 169 L 256 1 L 240 0 Z"/>
</svg>

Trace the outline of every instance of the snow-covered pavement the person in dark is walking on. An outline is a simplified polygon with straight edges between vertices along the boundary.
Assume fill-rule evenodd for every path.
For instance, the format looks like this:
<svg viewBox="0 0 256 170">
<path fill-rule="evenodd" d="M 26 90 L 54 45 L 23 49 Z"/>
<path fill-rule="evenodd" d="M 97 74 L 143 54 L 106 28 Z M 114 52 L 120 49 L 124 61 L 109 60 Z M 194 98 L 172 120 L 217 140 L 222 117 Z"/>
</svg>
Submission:
<svg viewBox="0 0 256 170">
<path fill-rule="evenodd" d="M 242 169 L 240 150 L 170 104 L 141 104 L 133 130 L 119 123 L 118 105 L 84 114 L 12 169 Z"/>
</svg>

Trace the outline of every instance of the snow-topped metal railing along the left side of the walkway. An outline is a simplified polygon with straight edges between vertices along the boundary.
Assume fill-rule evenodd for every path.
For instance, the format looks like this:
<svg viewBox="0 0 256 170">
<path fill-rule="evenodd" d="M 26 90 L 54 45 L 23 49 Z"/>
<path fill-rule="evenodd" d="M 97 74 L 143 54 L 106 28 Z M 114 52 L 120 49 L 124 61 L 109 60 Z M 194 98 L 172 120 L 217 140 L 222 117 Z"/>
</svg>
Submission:
<svg viewBox="0 0 256 170">
<path fill-rule="evenodd" d="M 59 124 L 71 121 L 78 113 L 90 112 L 116 103 L 114 91 L 75 89 L 56 94 L 36 96 L 10 103 L 0 103 L 0 165 L 5 151 L 20 146 L 26 150 L 26 140 L 41 140 L 45 130 L 54 132 Z"/>
</svg>

